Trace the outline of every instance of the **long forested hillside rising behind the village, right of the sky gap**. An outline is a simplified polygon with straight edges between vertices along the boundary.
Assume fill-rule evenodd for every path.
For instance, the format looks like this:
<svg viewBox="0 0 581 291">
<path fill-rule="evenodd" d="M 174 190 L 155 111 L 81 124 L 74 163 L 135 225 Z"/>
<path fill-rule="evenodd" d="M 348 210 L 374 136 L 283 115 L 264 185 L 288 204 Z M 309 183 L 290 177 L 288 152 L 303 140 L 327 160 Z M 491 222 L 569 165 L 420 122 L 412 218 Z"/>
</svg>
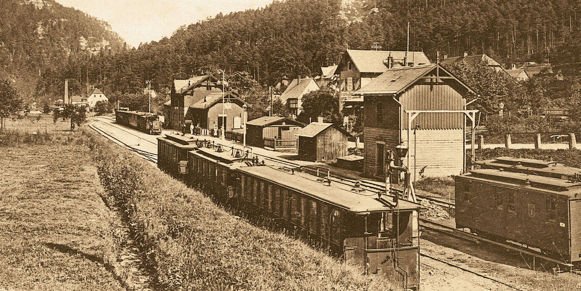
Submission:
<svg viewBox="0 0 581 291">
<path fill-rule="evenodd" d="M 201 71 L 248 71 L 260 84 L 313 76 L 346 48 L 487 53 L 503 62 L 577 62 L 581 23 L 576 0 L 288 0 L 217 15 L 170 38 L 107 57 L 107 74 L 152 80 L 156 89 Z M 105 74 L 105 73 L 103 73 Z M 95 80 L 95 79 L 93 79 Z M 120 80 L 117 80 L 120 81 Z M 118 85 L 123 85 L 123 82 Z M 110 91 L 121 91 L 114 84 Z"/>
</svg>

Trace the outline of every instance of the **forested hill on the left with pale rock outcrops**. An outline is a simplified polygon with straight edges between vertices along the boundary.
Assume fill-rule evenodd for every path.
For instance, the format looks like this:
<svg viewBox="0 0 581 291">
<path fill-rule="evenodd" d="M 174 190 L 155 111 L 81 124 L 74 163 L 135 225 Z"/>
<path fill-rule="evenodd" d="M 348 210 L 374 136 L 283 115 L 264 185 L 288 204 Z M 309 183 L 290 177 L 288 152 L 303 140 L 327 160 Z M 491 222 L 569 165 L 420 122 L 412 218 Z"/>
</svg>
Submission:
<svg viewBox="0 0 581 291">
<path fill-rule="evenodd" d="M 124 48 L 109 24 L 53 0 L 0 3 L 0 77 L 11 81 L 25 102 L 44 98 L 45 92 L 62 98 L 64 78 L 85 83 L 80 60 Z"/>
</svg>

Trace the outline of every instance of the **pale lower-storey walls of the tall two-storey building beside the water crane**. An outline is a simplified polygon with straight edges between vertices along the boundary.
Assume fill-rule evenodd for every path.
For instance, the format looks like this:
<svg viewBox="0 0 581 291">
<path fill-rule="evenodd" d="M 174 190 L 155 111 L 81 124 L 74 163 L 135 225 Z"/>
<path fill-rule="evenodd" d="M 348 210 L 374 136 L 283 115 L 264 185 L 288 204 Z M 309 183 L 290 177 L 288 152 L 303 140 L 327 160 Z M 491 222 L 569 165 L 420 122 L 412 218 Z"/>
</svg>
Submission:
<svg viewBox="0 0 581 291">
<path fill-rule="evenodd" d="M 377 173 L 377 142 L 385 142 L 385 163 L 388 163 L 387 150 L 393 150 L 399 145 L 398 131 L 383 128 L 365 128 L 364 130 L 364 164 L 366 177 L 374 177 Z M 426 167 L 425 177 L 442 177 L 462 173 L 464 165 L 464 146 L 462 130 L 417 130 L 410 132 L 410 173 L 412 181 L 421 178 L 419 171 Z M 416 139 L 417 138 L 417 139 Z M 401 131 L 404 145 L 407 143 L 407 131 Z M 407 157 L 403 160 L 407 166 Z M 415 175 L 415 176 L 414 176 Z"/>
</svg>

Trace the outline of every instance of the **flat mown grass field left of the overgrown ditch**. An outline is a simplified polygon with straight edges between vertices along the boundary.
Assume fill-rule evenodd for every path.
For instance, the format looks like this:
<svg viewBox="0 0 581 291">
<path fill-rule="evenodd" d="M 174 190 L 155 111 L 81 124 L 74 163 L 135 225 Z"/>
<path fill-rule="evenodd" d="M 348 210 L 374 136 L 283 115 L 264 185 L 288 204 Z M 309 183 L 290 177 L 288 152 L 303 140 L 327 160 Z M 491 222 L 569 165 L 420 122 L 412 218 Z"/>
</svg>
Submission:
<svg viewBox="0 0 581 291">
<path fill-rule="evenodd" d="M 0 147 L 0 290 L 124 290 L 89 149 Z"/>
</svg>

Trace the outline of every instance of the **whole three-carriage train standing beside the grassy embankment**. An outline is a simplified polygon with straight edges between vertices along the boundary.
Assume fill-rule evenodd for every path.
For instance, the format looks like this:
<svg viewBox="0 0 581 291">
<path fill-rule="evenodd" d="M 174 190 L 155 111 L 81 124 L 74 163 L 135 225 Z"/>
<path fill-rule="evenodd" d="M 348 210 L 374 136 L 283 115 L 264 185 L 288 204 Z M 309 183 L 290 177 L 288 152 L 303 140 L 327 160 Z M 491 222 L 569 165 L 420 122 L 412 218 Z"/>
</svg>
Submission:
<svg viewBox="0 0 581 291">
<path fill-rule="evenodd" d="M 203 185 L 218 201 L 288 229 L 368 274 L 399 278 L 404 289 L 418 289 L 420 204 L 333 178 L 326 168 L 309 174 L 275 159 L 260 160 L 250 148 L 176 134 L 157 140 L 160 169 Z"/>
</svg>

